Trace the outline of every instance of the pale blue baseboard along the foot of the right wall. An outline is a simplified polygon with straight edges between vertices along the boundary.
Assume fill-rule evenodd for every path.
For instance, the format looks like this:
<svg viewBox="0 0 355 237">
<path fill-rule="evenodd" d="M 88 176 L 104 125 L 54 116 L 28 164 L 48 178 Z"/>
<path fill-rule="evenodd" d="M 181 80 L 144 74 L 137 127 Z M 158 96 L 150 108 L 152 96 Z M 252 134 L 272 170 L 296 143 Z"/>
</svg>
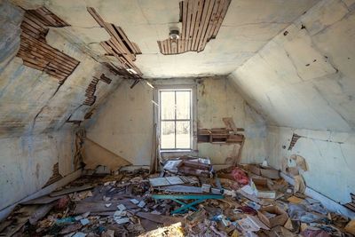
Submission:
<svg viewBox="0 0 355 237">
<path fill-rule="evenodd" d="M 294 186 L 295 181 L 294 178 L 289 177 L 288 175 L 280 172 L 280 175 L 282 178 L 284 178 L 290 185 Z M 331 210 L 333 212 L 337 212 L 342 214 L 345 217 L 349 217 L 351 219 L 355 218 L 355 212 L 351 211 L 350 209 L 347 209 L 343 207 L 340 203 L 331 200 L 330 198 L 326 197 L 323 194 L 318 193 L 317 191 L 313 190 L 310 187 L 305 188 L 304 194 L 312 197 L 315 200 L 320 201 L 324 207 L 326 207 L 328 210 Z"/>
</svg>

